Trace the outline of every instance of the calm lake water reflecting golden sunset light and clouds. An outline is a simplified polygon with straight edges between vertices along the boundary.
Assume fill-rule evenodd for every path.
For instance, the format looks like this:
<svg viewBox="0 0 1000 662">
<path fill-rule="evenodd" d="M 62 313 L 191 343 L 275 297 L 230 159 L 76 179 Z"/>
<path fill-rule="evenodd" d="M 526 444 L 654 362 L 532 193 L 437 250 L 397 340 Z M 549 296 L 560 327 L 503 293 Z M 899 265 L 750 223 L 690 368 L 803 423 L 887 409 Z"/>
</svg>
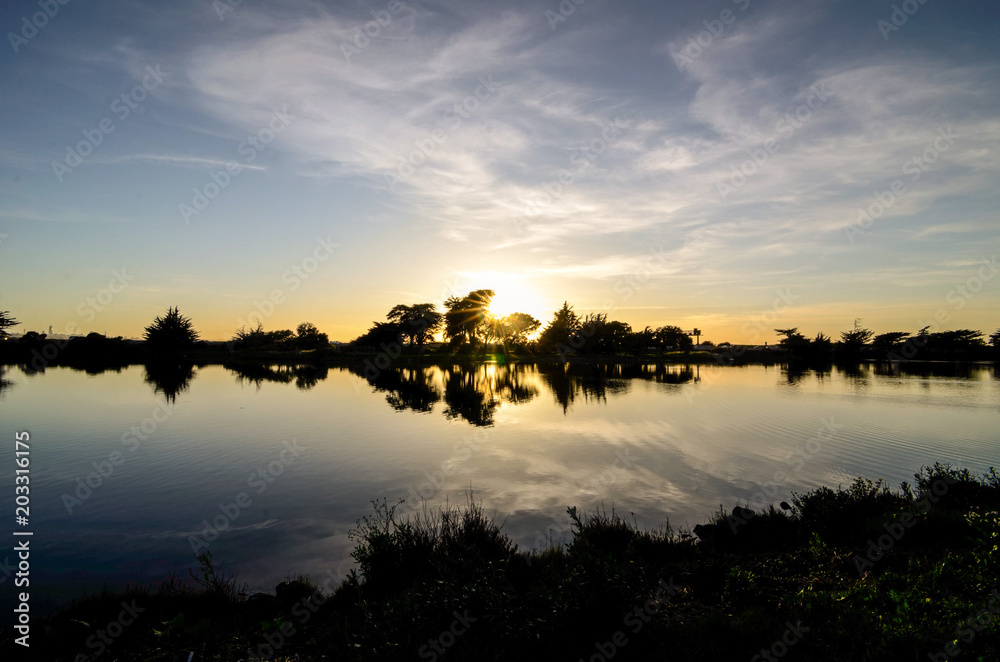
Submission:
<svg viewBox="0 0 1000 662">
<path fill-rule="evenodd" d="M 405 510 L 464 503 L 471 487 L 537 546 L 565 536 L 569 505 L 691 527 L 720 504 L 858 475 L 898 485 L 934 461 L 1000 466 L 994 367 L 133 366 L 8 368 L 3 382 L 8 448 L 31 433 L 39 606 L 186 576 L 205 520 L 226 525 L 205 539 L 215 558 L 270 590 L 299 572 L 343 575 L 347 532 L 376 498 Z M 9 493 L 13 469 L 10 453 Z"/>
</svg>

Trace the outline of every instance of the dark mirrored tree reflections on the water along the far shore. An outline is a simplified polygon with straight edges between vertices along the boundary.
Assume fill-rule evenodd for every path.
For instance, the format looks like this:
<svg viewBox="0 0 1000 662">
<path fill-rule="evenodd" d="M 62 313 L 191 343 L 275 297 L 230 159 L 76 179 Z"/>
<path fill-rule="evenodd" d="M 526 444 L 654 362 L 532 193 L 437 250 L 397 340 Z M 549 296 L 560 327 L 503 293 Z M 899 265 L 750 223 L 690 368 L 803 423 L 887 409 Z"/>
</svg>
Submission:
<svg viewBox="0 0 1000 662">
<path fill-rule="evenodd" d="M 258 390 L 265 382 L 295 384 L 309 390 L 329 377 L 329 368 L 321 365 L 226 364 L 235 373 L 240 385 L 253 385 Z M 4 370 L 6 368 L 3 368 Z M 25 372 L 34 372 L 21 366 Z M 335 368 L 336 369 L 336 368 Z M 581 403 L 606 402 L 609 397 L 630 392 L 636 381 L 664 385 L 695 384 L 701 379 L 700 366 L 641 363 L 540 363 L 482 364 L 451 366 L 389 366 L 375 370 L 370 364 L 348 365 L 340 370 L 363 378 L 373 393 L 385 395 L 386 403 L 396 411 L 429 413 L 439 402 L 441 413 L 448 419 L 463 420 L 475 426 L 495 423 L 498 409 L 505 404 L 531 402 L 548 391 L 563 413 Z M 96 370 L 96 372 L 95 372 Z M 118 371 L 117 366 L 104 370 Z M 799 387 L 811 381 L 822 381 L 836 372 L 855 392 L 869 390 L 876 380 L 899 377 L 957 378 L 962 380 L 1000 379 L 1000 366 L 959 363 L 871 363 L 808 365 L 788 364 L 780 367 L 779 385 Z M 0 393 L 11 386 L 0 371 Z M 153 390 L 173 403 L 190 387 L 196 375 L 195 366 L 177 362 L 150 363 L 145 366 L 145 381 Z M 924 383 L 924 387 L 929 384 Z M 669 391 L 668 391 L 669 392 Z M 680 392 L 678 389 L 676 392 Z"/>
</svg>

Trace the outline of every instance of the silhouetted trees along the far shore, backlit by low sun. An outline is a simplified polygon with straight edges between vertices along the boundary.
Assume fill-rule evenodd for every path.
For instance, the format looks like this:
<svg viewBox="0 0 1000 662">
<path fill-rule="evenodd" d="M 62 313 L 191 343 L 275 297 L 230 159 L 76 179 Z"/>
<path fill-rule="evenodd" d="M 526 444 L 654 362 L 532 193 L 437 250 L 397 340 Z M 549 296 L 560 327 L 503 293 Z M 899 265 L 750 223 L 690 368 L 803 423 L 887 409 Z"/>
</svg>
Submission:
<svg viewBox="0 0 1000 662">
<path fill-rule="evenodd" d="M 433 303 L 397 304 L 386 313 L 384 322 L 372 326 L 349 343 L 350 347 L 386 348 L 408 346 L 411 351 L 421 351 L 440 333 L 449 351 L 474 351 L 477 348 L 500 345 L 512 351 L 568 354 L 643 354 L 648 351 L 690 351 L 694 347 L 691 336 L 676 325 L 635 331 L 618 320 L 608 319 L 605 313 L 579 315 L 568 302 L 553 313 L 543 328 L 542 323 L 527 313 L 496 315 L 490 311 L 495 293 L 493 290 L 473 290 L 465 296 L 452 296 L 444 301 L 444 312 Z M 9 311 L 0 311 L 0 338 L 7 329 L 16 326 Z M 540 332 L 539 332 L 540 330 Z M 875 334 L 862 327 L 856 320 L 854 328 L 841 332 L 834 340 L 820 332 L 807 338 L 798 327 L 775 329 L 779 338 L 777 348 L 793 358 L 825 360 L 831 358 L 881 358 L 910 360 L 921 357 L 976 358 L 984 356 L 988 345 L 1000 349 L 1000 329 L 988 337 L 982 331 L 957 329 L 931 331 L 924 327 L 916 333 L 890 331 Z M 538 332 L 537 338 L 532 338 Z M 22 343 L 40 344 L 45 334 L 29 331 L 22 336 Z M 171 306 L 145 327 L 143 339 L 150 351 L 176 353 L 190 349 L 199 340 L 199 334 L 189 317 Z M 87 336 L 93 347 L 103 347 L 109 339 L 99 334 Z M 121 338 L 114 339 L 124 342 Z M 100 342 L 99 342 L 100 341 Z M 106 341 L 106 342 L 105 342 Z M 103 343 L 103 344 L 102 344 Z M 258 323 L 255 328 L 238 329 L 226 343 L 231 351 L 302 351 L 328 348 L 330 340 L 311 322 L 303 322 L 295 331 L 282 329 L 265 331 Z M 720 343 L 719 347 L 730 343 Z M 703 346 L 710 348 L 711 342 Z"/>
</svg>

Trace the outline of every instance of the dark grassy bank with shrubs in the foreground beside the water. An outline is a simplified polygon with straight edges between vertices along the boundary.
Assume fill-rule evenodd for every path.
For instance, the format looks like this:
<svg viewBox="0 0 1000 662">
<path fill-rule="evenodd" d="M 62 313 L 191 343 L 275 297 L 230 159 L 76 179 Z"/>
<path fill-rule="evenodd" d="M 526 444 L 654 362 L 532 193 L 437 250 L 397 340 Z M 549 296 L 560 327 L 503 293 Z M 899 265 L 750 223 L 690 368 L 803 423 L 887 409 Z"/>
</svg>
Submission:
<svg viewBox="0 0 1000 662">
<path fill-rule="evenodd" d="M 171 661 L 193 653 L 199 662 L 1000 659 L 995 470 L 934 465 L 898 490 L 858 479 L 792 501 L 720 511 L 694 533 L 570 508 L 571 540 L 542 551 L 519 550 L 474 502 L 417 519 L 375 502 L 352 533 L 358 570 L 339 585 L 299 577 L 275 596 L 248 597 L 203 556 L 194 585 L 174 579 L 156 591 L 104 594 L 37 623 L 33 653 Z M 126 607 L 134 622 L 128 615 L 114 626 Z"/>
</svg>

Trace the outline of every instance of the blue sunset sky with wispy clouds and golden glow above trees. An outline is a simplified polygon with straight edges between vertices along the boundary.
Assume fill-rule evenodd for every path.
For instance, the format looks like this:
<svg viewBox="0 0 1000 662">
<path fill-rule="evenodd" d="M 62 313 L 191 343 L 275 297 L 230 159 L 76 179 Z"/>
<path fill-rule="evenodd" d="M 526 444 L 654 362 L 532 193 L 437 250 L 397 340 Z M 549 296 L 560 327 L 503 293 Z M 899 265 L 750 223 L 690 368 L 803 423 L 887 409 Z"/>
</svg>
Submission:
<svg viewBox="0 0 1000 662">
<path fill-rule="evenodd" d="M 1000 5 L 0 3 L 0 310 L 1000 327 Z"/>
</svg>

